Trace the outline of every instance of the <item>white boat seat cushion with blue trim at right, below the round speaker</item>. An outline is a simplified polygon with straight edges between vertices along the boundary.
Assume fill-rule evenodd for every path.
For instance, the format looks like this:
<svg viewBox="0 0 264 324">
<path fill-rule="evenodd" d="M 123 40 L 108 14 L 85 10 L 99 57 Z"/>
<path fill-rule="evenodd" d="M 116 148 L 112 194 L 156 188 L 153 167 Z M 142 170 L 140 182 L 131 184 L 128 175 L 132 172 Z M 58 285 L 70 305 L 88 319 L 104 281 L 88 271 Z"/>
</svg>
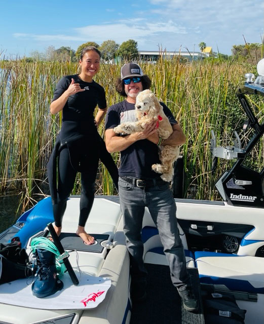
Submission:
<svg viewBox="0 0 264 324">
<path fill-rule="evenodd" d="M 200 282 L 230 290 L 264 294 L 264 258 L 215 252 L 195 252 Z"/>
</svg>

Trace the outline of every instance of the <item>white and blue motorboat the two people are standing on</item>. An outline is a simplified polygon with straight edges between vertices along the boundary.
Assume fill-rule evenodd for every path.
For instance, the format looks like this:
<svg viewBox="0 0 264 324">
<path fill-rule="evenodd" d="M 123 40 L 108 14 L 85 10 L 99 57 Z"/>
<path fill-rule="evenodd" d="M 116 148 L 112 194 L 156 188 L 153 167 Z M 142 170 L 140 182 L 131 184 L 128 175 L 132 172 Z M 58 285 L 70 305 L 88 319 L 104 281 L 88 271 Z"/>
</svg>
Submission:
<svg viewBox="0 0 264 324">
<path fill-rule="evenodd" d="M 245 320 L 240 322 L 262 324 L 264 169 L 260 173 L 250 170 L 243 166 L 243 160 L 262 137 L 264 125 L 258 124 L 248 105 L 246 94 L 263 96 L 264 87 L 249 79 L 238 90 L 239 100 L 254 133 L 248 145 L 242 149 L 237 138 L 235 147 L 217 148 L 214 136 L 212 139 L 214 156 L 237 158 L 233 168 L 224 172 L 216 183 L 223 201 L 175 199 L 175 204 L 188 271 L 199 274 L 199 297 L 203 295 L 201 291 L 206 290 L 213 290 L 216 298 L 217 295 L 232 295 L 239 308 L 246 310 Z M 36 298 L 31 294 L 32 281 L 28 278 L 2 284 L 0 324 L 130 323 L 129 257 L 119 198 L 95 198 L 86 225 L 87 231 L 95 236 L 96 244 L 93 246 L 85 246 L 73 232 L 78 222 L 79 203 L 79 196 L 69 197 L 60 237 L 64 249 L 69 252 L 68 259 L 80 281 L 79 285 L 73 285 L 68 273 L 65 273 L 62 277 L 64 288 L 61 291 L 46 298 Z M 50 222 L 53 222 L 52 204 L 50 197 L 47 197 L 0 234 L 0 242 L 6 244 L 12 237 L 18 236 L 22 247 L 29 253 L 32 238 L 42 236 Z M 168 267 L 158 230 L 147 208 L 143 219 L 142 240 L 145 264 Z M 205 321 L 208 309 L 200 301 L 199 311 L 192 314 L 193 317 L 190 315 L 190 321 L 184 322 L 209 323 Z M 182 308 L 179 309 L 181 311 Z M 234 319 L 232 314 L 233 310 L 219 309 L 221 323 L 229 323 L 228 320 Z M 183 318 L 181 313 L 179 316 Z M 197 321 L 194 321 L 195 316 Z M 177 320 L 175 318 L 175 323 L 181 322 Z M 145 321 L 148 322 L 150 323 Z M 160 323 L 160 320 L 157 322 Z M 155 321 L 152 320 L 151 323 Z"/>
</svg>

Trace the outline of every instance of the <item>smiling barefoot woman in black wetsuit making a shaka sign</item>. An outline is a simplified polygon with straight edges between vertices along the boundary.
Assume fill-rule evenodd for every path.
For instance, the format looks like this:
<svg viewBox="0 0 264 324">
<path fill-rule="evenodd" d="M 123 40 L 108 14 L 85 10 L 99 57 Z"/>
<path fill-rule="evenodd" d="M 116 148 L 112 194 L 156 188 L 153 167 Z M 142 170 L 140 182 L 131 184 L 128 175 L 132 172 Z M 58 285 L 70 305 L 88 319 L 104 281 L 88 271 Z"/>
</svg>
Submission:
<svg viewBox="0 0 264 324">
<path fill-rule="evenodd" d="M 92 46 L 83 49 L 80 57 L 81 73 L 64 76 L 57 84 L 50 111 L 52 114 L 62 110 L 62 127 L 48 163 L 48 178 L 53 204 L 55 231 L 61 232 L 62 217 L 67 198 L 81 172 L 80 216 L 77 234 L 88 245 L 94 237 L 84 227 L 94 201 L 94 183 L 99 157 L 108 162 L 110 175 L 117 183 L 118 170 L 105 144 L 97 132 L 106 113 L 104 89 L 93 77 L 100 68 L 101 53 Z M 94 110 L 98 113 L 94 118 Z M 105 162 L 103 161 L 105 164 Z M 58 173 L 58 174 L 57 174 Z M 57 184 L 58 178 L 58 184 Z"/>
</svg>

